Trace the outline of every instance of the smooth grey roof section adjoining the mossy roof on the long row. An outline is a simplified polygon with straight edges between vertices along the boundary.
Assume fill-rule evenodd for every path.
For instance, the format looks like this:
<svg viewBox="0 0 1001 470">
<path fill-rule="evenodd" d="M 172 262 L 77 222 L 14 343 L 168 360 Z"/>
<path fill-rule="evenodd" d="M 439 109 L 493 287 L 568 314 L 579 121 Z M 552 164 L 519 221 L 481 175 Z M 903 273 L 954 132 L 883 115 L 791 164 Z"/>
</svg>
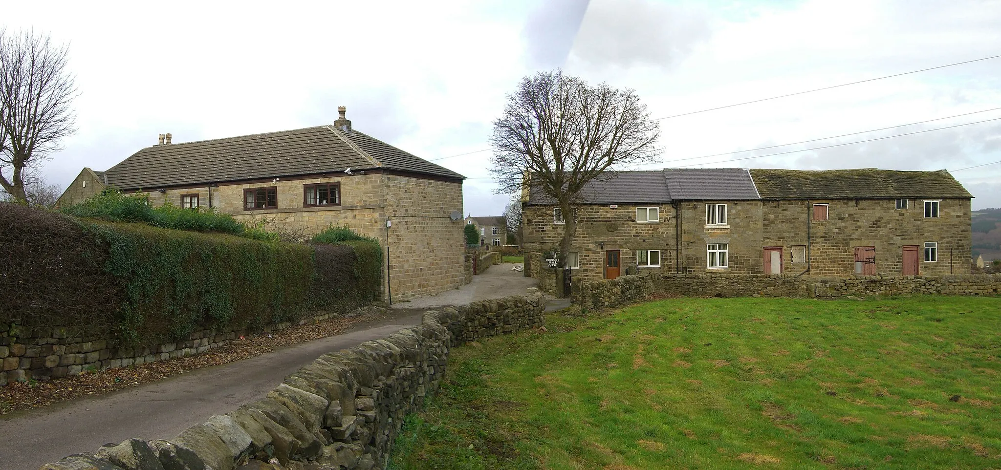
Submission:
<svg viewBox="0 0 1001 470">
<path fill-rule="evenodd" d="M 666 168 L 671 198 L 681 201 L 755 200 L 758 190 L 742 168 Z"/>
</svg>

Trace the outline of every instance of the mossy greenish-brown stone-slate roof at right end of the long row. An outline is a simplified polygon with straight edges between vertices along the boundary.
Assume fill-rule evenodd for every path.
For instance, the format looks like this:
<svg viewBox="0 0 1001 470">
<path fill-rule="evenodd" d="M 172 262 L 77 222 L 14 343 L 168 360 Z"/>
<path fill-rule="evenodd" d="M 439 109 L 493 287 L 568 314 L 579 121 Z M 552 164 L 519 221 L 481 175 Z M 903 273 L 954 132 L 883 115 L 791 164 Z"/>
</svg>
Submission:
<svg viewBox="0 0 1001 470">
<path fill-rule="evenodd" d="M 751 170 L 762 199 L 969 198 L 948 171 Z"/>
</svg>

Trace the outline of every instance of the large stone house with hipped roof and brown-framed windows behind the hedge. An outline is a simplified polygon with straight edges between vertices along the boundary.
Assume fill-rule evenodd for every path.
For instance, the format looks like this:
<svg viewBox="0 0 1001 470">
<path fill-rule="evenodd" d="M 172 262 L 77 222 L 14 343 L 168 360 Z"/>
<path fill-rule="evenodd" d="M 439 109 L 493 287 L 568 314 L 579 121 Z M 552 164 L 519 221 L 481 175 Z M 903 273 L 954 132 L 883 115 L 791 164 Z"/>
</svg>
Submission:
<svg viewBox="0 0 1001 470">
<path fill-rule="evenodd" d="M 351 128 L 330 125 L 139 150 L 104 172 L 84 168 L 59 205 L 106 187 L 154 204 L 206 207 L 251 223 L 317 233 L 341 225 L 388 248 L 393 298 L 464 282 L 464 177 Z"/>
</svg>

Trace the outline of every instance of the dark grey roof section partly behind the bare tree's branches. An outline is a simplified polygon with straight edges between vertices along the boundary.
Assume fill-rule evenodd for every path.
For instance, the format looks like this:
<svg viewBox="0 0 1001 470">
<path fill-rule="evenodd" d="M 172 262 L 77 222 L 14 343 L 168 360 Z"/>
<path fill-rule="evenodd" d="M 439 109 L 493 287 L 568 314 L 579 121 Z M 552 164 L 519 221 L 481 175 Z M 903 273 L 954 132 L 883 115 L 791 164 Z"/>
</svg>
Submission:
<svg viewBox="0 0 1001 470">
<path fill-rule="evenodd" d="M 592 180 L 582 190 L 585 204 L 626 204 L 632 202 L 671 202 L 664 172 L 620 171 L 601 180 Z M 529 205 L 555 204 L 553 198 L 536 188 L 529 192 Z"/>
</svg>

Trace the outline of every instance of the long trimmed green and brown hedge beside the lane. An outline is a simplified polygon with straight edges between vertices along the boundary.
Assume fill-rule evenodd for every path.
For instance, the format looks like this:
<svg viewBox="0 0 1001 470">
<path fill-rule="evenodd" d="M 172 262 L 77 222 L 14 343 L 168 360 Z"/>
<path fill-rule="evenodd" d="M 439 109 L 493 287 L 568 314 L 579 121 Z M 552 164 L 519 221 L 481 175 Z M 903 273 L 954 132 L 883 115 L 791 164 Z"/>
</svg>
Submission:
<svg viewBox="0 0 1001 470">
<path fill-rule="evenodd" d="M 0 329 L 65 326 L 122 346 L 344 313 L 381 296 L 372 241 L 260 241 L 14 204 L 0 204 L 2 261 Z"/>
</svg>

